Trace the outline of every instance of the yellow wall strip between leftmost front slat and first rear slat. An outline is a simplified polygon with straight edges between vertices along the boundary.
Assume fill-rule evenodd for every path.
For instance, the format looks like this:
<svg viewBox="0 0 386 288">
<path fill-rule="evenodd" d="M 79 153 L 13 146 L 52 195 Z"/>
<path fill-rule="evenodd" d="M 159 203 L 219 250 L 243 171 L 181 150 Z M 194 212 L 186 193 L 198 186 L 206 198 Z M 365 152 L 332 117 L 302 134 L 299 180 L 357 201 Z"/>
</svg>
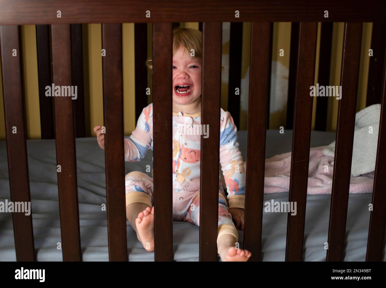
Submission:
<svg viewBox="0 0 386 288">
<path fill-rule="evenodd" d="M 35 25 L 22 26 L 22 53 L 27 139 L 40 139 L 41 128 Z"/>
</svg>

